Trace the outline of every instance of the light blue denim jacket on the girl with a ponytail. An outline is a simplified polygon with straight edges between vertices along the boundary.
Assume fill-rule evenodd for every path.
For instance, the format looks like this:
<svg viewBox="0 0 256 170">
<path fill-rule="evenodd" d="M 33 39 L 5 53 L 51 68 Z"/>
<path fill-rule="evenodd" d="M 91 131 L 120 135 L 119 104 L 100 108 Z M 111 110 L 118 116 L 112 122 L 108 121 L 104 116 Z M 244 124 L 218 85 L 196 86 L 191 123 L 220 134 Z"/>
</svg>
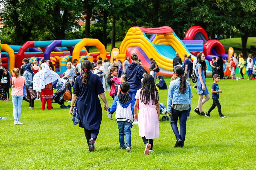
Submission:
<svg viewBox="0 0 256 170">
<path fill-rule="evenodd" d="M 180 77 L 176 80 L 171 81 L 168 89 L 168 97 L 167 97 L 167 112 L 171 112 L 172 104 L 190 104 L 191 105 L 191 97 L 192 91 L 189 82 L 186 80 L 187 89 L 184 94 L 179 92 L 180 88 Z"/>
</svg>

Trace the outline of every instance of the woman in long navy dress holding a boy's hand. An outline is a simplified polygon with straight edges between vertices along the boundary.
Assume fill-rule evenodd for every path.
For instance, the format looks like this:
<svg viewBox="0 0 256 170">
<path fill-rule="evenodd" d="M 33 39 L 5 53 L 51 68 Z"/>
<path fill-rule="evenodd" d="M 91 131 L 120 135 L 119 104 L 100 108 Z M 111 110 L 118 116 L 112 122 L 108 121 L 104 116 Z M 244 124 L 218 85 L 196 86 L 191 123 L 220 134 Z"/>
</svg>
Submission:
<svg viewBox="0 0 256 170">
<path fill-rule="evenodd" d="M 84 72 L 75 79 L 69 113 L 72 114 L 76 101 L 77 112 L 79 114 L 79 127 L 85 129 L 89 151 L 93 152 L 94 142 L 99 134 L 102 120 L 102 109 L 98 95 L 100 95 L 102 101 L 105 103 L 104 109 L 108 108 L 108 103 L 100 77 L 91 71 L 91 62 L 84 60 L 81 63 L 81 68 Z"/>
</svg>

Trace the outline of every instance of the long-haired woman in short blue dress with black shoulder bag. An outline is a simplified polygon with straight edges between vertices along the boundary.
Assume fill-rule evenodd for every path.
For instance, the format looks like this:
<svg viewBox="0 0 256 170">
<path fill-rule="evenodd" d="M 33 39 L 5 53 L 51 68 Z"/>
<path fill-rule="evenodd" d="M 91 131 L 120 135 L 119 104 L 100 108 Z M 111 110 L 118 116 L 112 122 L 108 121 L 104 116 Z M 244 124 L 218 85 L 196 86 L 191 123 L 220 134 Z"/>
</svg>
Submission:
<svg viewBox="0 0 256 170">
<path fill-rule="evenodd" d="M 205 62 L 205 56 L 204 53 L 198 53 L 196 55 L 197 57 L 197 63 L 196 63 L 196 76 L 197 76 L 197 94 L 199 94 L 198 98 L 198 105 L 196 109 L 194 109 L 194 112 L 196 112 L 198 115 L 204 116 L 202 105 L 210 99 L 210 95 L 207 89 L 207 86 L 205 84 L 205 77 L 204 73 L 206 72 L 207 66 Z M 205 96 L 205 98 L 204 98 Z"/>
</svg>

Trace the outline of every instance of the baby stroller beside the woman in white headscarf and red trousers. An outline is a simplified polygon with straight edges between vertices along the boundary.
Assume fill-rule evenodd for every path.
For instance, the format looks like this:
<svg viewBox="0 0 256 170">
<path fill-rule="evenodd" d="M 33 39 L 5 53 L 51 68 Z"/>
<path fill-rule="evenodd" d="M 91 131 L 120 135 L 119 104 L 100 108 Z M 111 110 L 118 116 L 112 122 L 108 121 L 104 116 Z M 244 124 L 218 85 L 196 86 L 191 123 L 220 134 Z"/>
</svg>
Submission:
<svg viewBox="0 0 256 170">
<path fill-rule="evenodd" d="M 53 83 L 53 88 L 56 89 L 56 93 L 53 94 L 52 103 L 58 103 L 60 105 L 60 108 L 62 109 L 70 108 L 70 105 L 68 106 L 64 105 L 65 101 L 63 99 L 64 92 L 70 88 L 70 83 L 68 81 L 68 78 L 66 77 L 59 78 L 56 82 L 57 82 L 56 85 L 55 83 Z"/>
</svg>

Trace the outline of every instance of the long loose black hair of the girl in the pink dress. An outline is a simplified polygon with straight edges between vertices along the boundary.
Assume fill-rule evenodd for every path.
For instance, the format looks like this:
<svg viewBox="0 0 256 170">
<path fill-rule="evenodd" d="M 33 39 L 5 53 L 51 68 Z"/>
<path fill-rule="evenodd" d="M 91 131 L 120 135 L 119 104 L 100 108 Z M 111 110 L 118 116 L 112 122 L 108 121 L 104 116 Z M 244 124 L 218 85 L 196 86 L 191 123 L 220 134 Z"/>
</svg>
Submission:
<svg viewBox="0 0 256 170">
<path fill-rule="evenodd" d="M 159 101 L 159 93 L 155 86 L 154 77 L 150 74 L 146 74 L 143 78 L 142 87 L 140 91 L 140 100 L 148 105 L 150 100 L 152 105 L 155 105 Z"/>
</svg>

